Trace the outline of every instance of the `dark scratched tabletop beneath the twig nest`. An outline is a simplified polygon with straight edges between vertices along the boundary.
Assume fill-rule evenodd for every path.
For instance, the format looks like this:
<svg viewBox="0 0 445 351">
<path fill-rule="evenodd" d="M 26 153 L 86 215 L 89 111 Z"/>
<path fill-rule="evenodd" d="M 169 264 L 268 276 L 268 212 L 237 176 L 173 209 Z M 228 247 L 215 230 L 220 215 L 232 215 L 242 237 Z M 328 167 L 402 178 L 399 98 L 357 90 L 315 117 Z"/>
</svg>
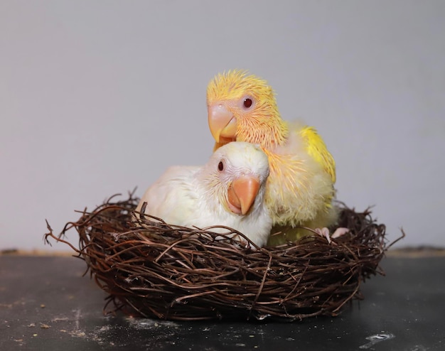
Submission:
<svg viewBox="0 0 445 351">
<path fill-rule="evenodd" d="M 104 315 L 75 257 L 0 256 L 0 350 L 445 350 L 445 256 L 390 255 L 334 318 L 171 322 Z"/>
</svg>

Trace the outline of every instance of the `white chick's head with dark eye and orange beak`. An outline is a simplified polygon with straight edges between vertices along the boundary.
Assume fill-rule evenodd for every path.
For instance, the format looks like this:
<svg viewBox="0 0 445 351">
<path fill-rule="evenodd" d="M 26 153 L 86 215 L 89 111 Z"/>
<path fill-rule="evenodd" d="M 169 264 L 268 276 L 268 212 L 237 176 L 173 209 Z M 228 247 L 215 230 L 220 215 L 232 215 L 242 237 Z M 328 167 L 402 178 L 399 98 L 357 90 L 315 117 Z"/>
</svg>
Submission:
<svg viewBox="0 0 445 351">
<path fill-rule="evenodd" d="M 258 145 L 237 141 L 216 150 L 203 167 L 206 191 L 225 210 L 246 215 L 262 205 L 269 161 Z"/>
</svg>

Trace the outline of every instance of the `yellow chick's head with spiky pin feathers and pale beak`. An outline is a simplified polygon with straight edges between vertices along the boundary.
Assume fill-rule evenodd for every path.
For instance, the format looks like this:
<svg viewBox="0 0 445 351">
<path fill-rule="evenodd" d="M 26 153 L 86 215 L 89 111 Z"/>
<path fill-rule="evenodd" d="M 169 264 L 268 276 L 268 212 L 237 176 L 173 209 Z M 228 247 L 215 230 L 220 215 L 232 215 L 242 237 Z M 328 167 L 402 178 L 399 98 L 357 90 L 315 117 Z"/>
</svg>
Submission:
<svg viewBox="0 0 445 351">
<path fill-rule="evenodd" d="M 272 87 L 245 70 L 216 75 L 207 88 L 207 108 L 210 132 L 218 144 L 247 141 L 270 148 L 287 138 Z"/>
</svg>

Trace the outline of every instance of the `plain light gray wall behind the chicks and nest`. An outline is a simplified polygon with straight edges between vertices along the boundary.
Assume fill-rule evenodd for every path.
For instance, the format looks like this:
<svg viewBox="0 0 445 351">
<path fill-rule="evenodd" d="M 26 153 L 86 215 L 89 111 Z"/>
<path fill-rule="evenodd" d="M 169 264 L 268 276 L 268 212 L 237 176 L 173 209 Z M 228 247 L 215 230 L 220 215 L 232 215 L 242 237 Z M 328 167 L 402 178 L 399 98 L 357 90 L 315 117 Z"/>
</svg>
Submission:
<svg viewBox="0 0 445 351">
<path fill-rule="evenodd" d="M 444 38 L 445 1 L 0 1 L 0 249 L 205 163 L 231 68 L 316 126 L 339 200 L 444 246 Z"/>
</svg>

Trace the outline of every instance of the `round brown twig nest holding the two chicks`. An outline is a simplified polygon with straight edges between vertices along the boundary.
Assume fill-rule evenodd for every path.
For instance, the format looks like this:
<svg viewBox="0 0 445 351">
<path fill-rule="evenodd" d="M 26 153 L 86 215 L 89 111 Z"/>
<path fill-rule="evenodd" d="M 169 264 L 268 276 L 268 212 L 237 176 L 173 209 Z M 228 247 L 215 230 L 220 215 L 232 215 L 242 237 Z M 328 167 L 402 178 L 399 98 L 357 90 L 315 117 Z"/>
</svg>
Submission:
<svg viewBox="0 0 445 351">
<path fill-rule="evenodd" d="M 314 234 L 251 249 L 212 228 L 178 227 L 140 215 L 132 193 L 127 200 L 114 199 L 92 212 L 85 209 L 59 235 L 49 225 L 45 234 L 46 242 L 68 244 L 85 260 L 109 294 L 106 312 L 166 320 L 333 316 L 348 301 L 363 298 L 365 279 L 383 274 L 379 262 L 390 246 L 385 225 L 370 210 L 355 212 L 341 203 L 338 225 L 350 232 L 331 243 Z M 73 227 L 78 248 L 64 239 Z"/>
</svg>

